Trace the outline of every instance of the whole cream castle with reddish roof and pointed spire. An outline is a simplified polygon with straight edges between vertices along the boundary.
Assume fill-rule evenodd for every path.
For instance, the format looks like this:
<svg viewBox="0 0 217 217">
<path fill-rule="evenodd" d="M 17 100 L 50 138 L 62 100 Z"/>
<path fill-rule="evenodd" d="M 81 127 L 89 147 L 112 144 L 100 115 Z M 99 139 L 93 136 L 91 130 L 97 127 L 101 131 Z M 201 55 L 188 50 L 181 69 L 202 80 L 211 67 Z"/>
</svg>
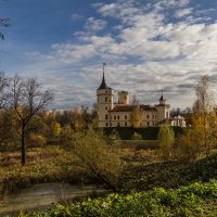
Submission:
<svg viewBox="0 0 217 217">
<path fill-rule="evenodd" d="M 183 117 L 169 118 L 170 105 L 166 103 L 162 94 L 158 104 L 130 104 L 129 93 L 127 91 L 118 92 L 118 103 L 114 103 L 114 90 L 105 82 L 104 64 L 103 77 L 100 87 L 97 90 L 97 110 L 99 117 L 99 127 L 131 127 L 136 106 L 139 107 L 140 120 L 139 127 L 161 126 L 168 122 L 171 126 L 186 127 Z"/>
</svg>

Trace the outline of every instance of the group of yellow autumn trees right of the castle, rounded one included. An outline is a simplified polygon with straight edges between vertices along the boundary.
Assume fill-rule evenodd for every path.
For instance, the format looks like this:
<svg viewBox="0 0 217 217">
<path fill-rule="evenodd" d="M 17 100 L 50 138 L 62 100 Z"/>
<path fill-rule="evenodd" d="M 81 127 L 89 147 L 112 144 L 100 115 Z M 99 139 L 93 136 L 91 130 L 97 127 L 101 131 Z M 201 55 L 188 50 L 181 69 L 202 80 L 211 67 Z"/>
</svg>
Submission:
<svg viewBox="0 0 217 217">
<path fill-rule="evenodd" d="M 159 129 L 159 154 L 165 159 L 191 162 L 204 155 L 208 156 L 217 149 L 217 110 L 208 76 L 202 76 L 195 87 L 195 93 L 191 127 L 176 140 L 171 127 L 165 125 Z"/>
</svg>

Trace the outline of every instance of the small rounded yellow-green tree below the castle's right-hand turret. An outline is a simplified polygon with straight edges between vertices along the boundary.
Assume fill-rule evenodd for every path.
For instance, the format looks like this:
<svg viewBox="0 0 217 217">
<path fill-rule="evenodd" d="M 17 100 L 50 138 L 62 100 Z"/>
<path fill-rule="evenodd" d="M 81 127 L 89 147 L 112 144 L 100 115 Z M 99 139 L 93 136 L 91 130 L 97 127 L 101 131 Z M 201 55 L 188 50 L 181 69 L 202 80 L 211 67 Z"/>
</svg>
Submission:
<svg viewBox="0 0 217 217">
<path fill-rule="evenodd" d="M 158 132 L 159 154 L 163 158 L 168 159 L 173 153 L 175 143 L 175 133 L 169 125 L 163 125 Z"/>
</svg>

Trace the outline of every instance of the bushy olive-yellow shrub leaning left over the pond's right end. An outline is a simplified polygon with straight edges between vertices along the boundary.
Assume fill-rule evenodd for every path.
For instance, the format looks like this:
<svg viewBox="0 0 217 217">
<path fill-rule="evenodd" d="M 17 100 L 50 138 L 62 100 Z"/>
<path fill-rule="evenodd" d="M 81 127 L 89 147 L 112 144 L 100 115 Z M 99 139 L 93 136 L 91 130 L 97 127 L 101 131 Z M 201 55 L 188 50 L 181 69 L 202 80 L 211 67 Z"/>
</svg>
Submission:
<svg viewBox="0 0 217 217">
<path fill-rule="evenodd" d="M 122 159 L 117 150 L 106 143 L 103 135 L 91 128 L 76 132 L 72 150 L 97 178 L 116 191 L 122 174 Z"/>
</svg>

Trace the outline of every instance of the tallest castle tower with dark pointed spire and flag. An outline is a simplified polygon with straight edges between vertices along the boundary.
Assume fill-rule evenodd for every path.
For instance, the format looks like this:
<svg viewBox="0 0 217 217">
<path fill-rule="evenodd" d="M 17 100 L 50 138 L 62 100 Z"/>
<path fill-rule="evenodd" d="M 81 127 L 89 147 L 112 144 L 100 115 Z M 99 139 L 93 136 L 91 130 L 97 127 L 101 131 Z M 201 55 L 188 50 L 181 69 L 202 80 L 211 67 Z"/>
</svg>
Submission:
<svg viewBox="0 0 217 217">
<path fill-rule="evenodd" d="M 110 127 L 108 111 L 114 107 L 114 90 L 105 82 L 104 66 L 105 63 L 103 63 L 102 82 L 97 90 L 99 127 Z"/>
</svg>

